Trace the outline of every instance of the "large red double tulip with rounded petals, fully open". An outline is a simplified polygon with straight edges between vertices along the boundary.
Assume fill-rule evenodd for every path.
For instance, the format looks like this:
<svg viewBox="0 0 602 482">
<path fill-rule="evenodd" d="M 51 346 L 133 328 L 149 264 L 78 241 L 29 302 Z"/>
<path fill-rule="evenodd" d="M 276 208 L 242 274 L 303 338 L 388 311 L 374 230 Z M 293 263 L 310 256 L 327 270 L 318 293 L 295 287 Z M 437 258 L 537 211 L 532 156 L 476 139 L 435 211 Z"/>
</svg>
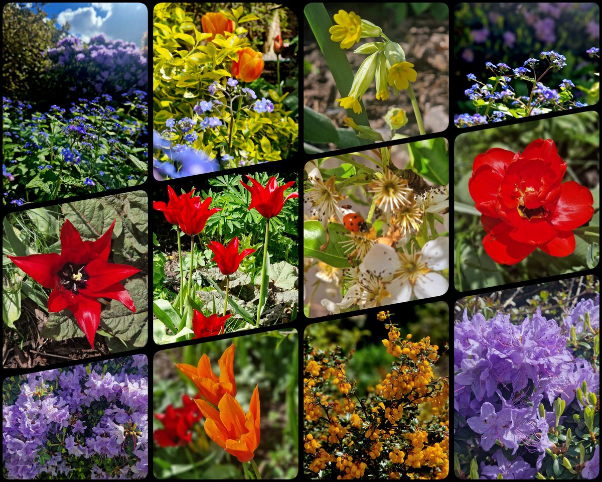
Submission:
<svg viewBox="0 0 602 482">
<path fill-rule="evenodd" d="M 536 248 L 557 257 L 574 251 L 573 230 L 591 219 L 594 198 L 575 181 L 563 183 L 565 172 L 550 139 L 534 140 L 522 154 L 494 148 L 477 155 L 468 190 L 496 263 L 518 263 Z"/>
</svg>

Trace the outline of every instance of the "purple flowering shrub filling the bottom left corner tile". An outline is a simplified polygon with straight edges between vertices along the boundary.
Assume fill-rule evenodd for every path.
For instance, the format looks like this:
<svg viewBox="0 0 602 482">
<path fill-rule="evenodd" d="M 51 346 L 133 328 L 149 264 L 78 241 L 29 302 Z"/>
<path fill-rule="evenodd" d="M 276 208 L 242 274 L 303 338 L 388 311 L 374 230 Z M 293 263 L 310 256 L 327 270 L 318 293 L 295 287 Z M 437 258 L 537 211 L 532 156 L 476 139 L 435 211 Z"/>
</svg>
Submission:
<svg viewBox="0 0 602 482">
<path fill-rule="evenodd" d="M 2 475 L 146 477 L 147 363 L 133 355 L 5 379 Z"/>
</svg>

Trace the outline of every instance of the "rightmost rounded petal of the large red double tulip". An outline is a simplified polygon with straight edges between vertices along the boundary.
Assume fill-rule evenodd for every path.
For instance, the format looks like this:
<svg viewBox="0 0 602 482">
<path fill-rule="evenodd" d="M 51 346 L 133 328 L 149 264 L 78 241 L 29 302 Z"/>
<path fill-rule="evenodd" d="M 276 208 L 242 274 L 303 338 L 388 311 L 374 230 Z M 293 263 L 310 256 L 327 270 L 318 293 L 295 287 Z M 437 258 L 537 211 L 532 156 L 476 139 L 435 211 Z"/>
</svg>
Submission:
<svg viewBox="0 0 602 482">
<path fill-rule="evenodd" d="M 592 218 L 594 196 L 587 187 L 575 181 L 560 186 L 560 198 L 554 208 L 551 224 L 562 231 L 572 231 Z"/>
</svg>

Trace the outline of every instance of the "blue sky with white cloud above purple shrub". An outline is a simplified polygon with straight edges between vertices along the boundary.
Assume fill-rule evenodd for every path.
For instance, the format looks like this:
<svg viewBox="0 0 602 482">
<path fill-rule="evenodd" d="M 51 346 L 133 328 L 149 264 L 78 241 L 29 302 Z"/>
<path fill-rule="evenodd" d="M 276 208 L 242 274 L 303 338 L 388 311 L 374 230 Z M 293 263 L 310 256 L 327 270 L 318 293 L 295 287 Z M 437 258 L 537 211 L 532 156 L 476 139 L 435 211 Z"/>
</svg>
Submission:
<svg viewBox="0 0 602 482">
<path fill-rule="evenodd" d="M 148 12 L 140 3 L 55 3 L 45 5 L 49 16 L 57 15 L 62 25 L 69 22 L 70 33 L 84 42 L 104 33 L 110 39 L 122 39 L 141 46 L 142 34 L 148 28 Z"/>
</svg>

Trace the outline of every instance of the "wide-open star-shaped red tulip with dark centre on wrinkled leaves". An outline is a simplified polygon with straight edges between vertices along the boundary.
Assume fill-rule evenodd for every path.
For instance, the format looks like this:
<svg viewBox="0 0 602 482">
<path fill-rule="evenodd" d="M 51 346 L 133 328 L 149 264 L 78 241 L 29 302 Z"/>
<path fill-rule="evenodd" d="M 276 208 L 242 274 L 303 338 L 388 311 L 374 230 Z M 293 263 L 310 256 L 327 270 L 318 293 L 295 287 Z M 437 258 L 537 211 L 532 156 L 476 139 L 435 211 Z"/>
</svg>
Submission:
<svg viewBox="0 0 602 482">
<path fill-rule="evenodd" d="M 136 312 L 131 296 L 119 283 L 140 271 L 128 264 L 109 263 L 115 221 L 96 241 L 82 241 L 67 219 L 61 228 L 61 254 L 9 256 L 14 264 L 45 288 L 52 289 L 48 310 L 69 310 L 94 348 L 101 321 L 98 298 L 116 299 Z"/>
</svg>

